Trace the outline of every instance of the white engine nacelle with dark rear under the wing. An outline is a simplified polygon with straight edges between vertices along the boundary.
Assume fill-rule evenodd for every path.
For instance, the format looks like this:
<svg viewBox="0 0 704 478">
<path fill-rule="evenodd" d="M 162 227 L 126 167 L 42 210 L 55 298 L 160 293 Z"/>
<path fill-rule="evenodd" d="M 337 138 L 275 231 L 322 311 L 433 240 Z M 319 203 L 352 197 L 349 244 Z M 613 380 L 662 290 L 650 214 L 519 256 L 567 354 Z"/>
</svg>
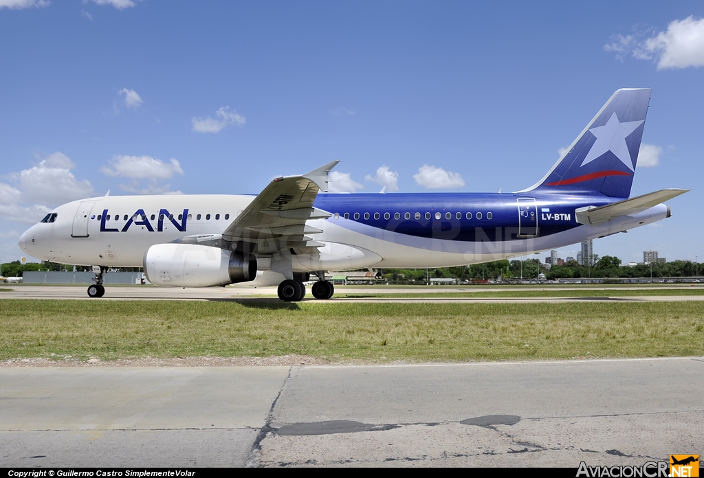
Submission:
<svg viewBox="0 0 704 478">
<path fill-rule="evenodd" d="M 156 244 L 144 254 L 144 274 L 165 287 L 213 287 L 253 280 L 257 259 L 206 245 Z"/>
</svg>

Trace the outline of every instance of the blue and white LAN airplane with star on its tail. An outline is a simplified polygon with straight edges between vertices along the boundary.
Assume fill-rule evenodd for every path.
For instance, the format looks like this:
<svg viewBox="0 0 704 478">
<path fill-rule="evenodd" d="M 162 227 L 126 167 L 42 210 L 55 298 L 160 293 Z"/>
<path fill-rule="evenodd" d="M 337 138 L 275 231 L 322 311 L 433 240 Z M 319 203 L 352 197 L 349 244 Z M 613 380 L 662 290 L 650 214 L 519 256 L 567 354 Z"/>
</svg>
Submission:
<svg viewBox="0 0 704 478">
<path fill-rule="evenodd" d="M 325 271 L 479 264 L 603 238 L 670 217 L 686 189 L 630 198 L 650 89 L 620 89 L 553 167 L 515 193 L 328 193 L 337 161 L 273 179 L 258 195 L 88 198 L 54 209 L 20 237 L 46 261 L 144 267 L 149 282 L 213 287 L 255 280 L 297 302 L 329 299 Z M 108 191 L 109 194 L 109 191 Z"/>
</svg>

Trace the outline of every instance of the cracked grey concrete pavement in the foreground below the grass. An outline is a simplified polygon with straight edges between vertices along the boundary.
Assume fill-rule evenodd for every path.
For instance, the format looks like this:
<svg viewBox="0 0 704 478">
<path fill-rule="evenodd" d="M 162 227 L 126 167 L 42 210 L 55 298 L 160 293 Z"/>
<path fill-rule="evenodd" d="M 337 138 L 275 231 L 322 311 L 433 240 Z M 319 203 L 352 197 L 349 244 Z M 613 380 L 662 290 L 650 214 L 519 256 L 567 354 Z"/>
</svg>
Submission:
<svg viewBox="0 0 704 478">
<path fill-rule="evenodd" d="M 0 466 L 642 465 L 701 453 L 704 358 L 0 368 Z"/>
</svg>

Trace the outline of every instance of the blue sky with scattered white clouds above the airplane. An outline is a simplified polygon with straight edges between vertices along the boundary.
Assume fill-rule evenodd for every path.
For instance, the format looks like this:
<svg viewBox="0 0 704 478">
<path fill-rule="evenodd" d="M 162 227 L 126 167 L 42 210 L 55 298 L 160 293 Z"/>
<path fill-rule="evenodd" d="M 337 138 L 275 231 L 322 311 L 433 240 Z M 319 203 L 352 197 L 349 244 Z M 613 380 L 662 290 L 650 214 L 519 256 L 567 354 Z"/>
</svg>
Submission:
<svg viewBox="0 0 704 478">
<path fill-rule="evenodd" d="M 341 160 L 340 190 L 520 190 L 622 87 L 653 89 L 632 193 L 692 191 L 594 251 L 704 260 L 702 18 L 700 1 L 0 0 L 0 260 L 47 208 L 108 189 L 258 193 Z"/>
</svg>

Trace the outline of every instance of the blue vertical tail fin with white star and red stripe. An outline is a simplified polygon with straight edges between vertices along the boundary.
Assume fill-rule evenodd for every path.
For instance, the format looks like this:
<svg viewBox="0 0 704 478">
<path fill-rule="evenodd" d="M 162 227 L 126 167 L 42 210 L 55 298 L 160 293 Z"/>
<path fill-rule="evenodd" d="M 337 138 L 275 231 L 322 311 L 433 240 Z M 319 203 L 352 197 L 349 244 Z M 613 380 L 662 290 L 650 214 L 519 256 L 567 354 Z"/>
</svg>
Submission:
<svg viewBox="0 0 704 478">
<path fill-rule="evenodd" d="M 620 89 L 531 188 L 554 193 L 601 193 L 628 198 L 636 171 L 650 89 Z"/>
</svg>

